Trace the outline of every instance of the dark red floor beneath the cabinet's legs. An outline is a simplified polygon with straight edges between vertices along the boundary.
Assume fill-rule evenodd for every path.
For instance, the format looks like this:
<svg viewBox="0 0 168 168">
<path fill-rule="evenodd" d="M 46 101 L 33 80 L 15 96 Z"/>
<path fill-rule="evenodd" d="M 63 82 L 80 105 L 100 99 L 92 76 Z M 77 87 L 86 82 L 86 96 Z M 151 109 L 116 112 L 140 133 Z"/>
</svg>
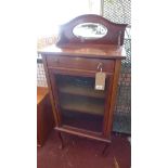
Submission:
<svg viewBox="0 0 168 168">
<path fill-rule="evenodd" d="M 113 135 L 106 156 L 101 152 L 104 143 L 63 134 L 65 148 L 53 130 L 43 145 L 38 147 L 37 168 L 130 168 L 131 146 L 126 135 Z"/>
</svg>

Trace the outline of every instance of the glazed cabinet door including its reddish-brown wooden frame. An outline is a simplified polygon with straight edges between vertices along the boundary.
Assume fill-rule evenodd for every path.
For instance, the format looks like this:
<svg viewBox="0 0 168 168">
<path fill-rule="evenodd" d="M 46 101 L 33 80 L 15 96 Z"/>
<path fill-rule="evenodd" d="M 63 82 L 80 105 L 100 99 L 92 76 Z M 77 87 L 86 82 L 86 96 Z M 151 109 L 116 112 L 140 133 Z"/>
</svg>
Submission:
<svg viewBox="0 0 168 168">
<path fill-rule="evenodd" d="M 50 69 L 49 75 L 60 126 L 104 133 L 112 76 L 106 76 L 104 90 L 95 90 L 93 75 L 66 75 L 56 69 Z"/>
</svg>

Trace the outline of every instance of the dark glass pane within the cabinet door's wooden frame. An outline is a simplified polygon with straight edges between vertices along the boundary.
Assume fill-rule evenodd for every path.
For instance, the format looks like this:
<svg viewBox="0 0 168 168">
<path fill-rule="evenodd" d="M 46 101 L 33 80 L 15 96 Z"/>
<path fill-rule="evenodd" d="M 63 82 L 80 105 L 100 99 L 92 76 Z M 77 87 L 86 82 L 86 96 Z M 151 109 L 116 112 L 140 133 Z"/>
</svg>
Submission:
<svg viewBox="0 0 168 168">
<path fill-rule="evenodd" d="M 106 90 L 94 89 L 95 78 L 55 75 L 55 82 L 62 125 L 102 132 Z"/>
</svg>

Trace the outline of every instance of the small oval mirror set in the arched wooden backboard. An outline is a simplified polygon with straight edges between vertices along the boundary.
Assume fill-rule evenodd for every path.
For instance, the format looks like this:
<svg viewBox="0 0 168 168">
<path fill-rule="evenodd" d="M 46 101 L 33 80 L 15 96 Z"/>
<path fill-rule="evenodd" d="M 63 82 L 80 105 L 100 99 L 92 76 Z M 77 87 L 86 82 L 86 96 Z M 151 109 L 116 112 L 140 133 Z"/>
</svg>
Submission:
<svg viewBox="0 0 168 168">
<path fill-rule="evenodd" d="M 99 23 L 82 23 L 74 27 L 73 34 L 81 39 L 99 39 L 107 34 L 107 28 Z"/>
</svg>

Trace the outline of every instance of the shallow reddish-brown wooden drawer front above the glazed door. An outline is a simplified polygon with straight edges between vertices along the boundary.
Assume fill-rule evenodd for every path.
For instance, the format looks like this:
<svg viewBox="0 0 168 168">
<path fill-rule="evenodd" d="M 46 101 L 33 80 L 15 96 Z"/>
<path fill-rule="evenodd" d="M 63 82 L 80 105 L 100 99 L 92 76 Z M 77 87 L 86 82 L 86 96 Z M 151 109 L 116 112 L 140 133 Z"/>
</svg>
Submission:
<svg viewBox="0 0 168 168">
<path fill-rule="evenodd" d="M 86 57 L 69 57 L 69 56 L 47 56 L 48 67 L 64 67 L 74 69 L 95 70 L 101 69 L 103 72 L 113 72 L 113 60 L 101 59 L 86 59 Z"/>
</svg>

